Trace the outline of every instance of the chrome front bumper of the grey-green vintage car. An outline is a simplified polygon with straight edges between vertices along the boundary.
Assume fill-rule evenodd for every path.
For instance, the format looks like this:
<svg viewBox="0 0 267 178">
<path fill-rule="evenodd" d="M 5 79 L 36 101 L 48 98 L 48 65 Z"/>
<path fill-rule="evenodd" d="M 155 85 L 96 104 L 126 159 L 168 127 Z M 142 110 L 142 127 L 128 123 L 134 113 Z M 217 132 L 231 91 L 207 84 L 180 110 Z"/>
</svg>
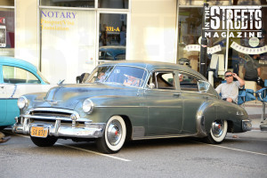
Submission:
<svg viewBox="0 0 267 178">
<path fill-rule="evenodd" d="M 87 123 L 84 127 L 75 125 L 61 125 L 61 120 L 56 120 L 51 124 L 34 124 L 29 122 L 29 118 L 16 118 L 16 123 L 12 125 L 12 132 L 19 134 L 30 134 L 32 126 L 44 127 L 48 129 L 48 135 L 69 138 L 99 138 L 102 136 L 105 123 Z"/>
</svg>

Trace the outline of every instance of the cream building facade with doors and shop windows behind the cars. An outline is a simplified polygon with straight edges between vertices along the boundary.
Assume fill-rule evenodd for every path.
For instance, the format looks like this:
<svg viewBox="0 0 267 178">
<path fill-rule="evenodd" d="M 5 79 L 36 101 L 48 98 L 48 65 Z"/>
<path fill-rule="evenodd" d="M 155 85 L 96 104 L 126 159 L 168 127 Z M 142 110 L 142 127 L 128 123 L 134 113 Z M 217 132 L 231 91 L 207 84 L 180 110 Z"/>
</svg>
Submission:
<svg viewBox="0 0 267 178">
<path fill-rule="evenodd" d="M 209 0 L 210 6 L 260 6 L 266 17 L 265 0 Z M 129 61 L 188 61 L 199 70 L 199 37 L 203 22 L 202 0 L 0 0 L 0 55 L 35 64 L 44 76 L 57 83 L 75 83 L 90 73 L 109 49 L 124 47 L 120 56 Z M 261 77 L 267 78 L 266 24 L 262 37 L 207 36 L 206 74 L 211 83 L 232 70 L 244 77 L 247 59 L 259 52 Z M 221 30 L 222 29 L 218 29 Z M 254 50 L 252 53 L 246 50 Z M 181 60 L 182 59 L 182 60 Z M 266 62 L 266 64 L 265 64 Z"/>
</svg>

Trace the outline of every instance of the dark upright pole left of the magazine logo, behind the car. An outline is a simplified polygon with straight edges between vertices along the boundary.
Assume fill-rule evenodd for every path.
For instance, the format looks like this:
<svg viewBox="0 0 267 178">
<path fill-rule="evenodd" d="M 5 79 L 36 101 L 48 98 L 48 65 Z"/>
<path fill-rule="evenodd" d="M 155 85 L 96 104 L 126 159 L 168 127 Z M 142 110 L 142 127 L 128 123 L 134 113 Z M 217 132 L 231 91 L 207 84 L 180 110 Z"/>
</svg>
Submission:
<svg viewBox="0 0 267 178">
<path fill-rule="evenodd" d="M 200 47 L 200 62 L 199 62 L 199 73 L 206 77 L 206 49 L 207 49 L 207 39 L 205 36 L 205 9 L 208 7 L 206 0 L 203 4 L 203 18 L 202 18 L 202 37 L 201 37 L 201 47 Z"/>
</svg>

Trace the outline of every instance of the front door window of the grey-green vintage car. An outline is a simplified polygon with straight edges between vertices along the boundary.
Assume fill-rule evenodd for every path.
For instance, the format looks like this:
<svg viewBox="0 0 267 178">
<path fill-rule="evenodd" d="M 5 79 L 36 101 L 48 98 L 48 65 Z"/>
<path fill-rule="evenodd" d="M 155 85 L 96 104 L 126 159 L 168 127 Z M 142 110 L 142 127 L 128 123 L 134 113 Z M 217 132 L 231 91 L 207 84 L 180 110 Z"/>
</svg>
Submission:
<svg viewBox="0 0 267 178">
<path fill-rule="evenodd" d="M 174 73 L 153 72 L 150 76 L 148 85 L 150 88 L 174 90 Z"/>
</svg>

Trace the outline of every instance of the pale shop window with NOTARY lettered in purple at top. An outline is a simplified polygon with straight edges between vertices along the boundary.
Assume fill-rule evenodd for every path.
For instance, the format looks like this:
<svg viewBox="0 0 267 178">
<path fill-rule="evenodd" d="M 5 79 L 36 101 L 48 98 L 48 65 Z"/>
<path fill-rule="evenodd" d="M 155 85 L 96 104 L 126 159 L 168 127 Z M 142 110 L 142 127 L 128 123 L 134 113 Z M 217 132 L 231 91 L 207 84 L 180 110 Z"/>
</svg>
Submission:
<svg viewBox="0 0 267 178">
<path fill-rule="evenodd" d="M 75 83 L 93 70 L 95 59 L 94 11 L 40 9 L 41 66 L 47 79 Z"/>
</svg>

